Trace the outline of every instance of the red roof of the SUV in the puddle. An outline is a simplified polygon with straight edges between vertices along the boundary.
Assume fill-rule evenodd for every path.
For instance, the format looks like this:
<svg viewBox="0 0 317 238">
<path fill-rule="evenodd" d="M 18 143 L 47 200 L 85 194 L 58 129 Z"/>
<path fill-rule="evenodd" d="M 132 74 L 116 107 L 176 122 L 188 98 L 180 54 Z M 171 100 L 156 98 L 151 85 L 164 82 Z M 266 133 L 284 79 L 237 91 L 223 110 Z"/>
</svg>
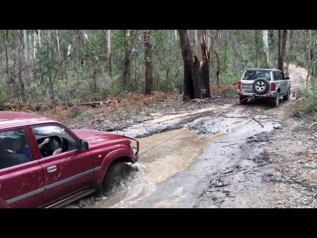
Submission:
<svg viewBox="0 0 317 238">
<path fill-rule="evenodd" d="M 20 112 L 0 112 L 0 129 L 15 126 L 56 122 L 41 115 Z"/>
</svg>

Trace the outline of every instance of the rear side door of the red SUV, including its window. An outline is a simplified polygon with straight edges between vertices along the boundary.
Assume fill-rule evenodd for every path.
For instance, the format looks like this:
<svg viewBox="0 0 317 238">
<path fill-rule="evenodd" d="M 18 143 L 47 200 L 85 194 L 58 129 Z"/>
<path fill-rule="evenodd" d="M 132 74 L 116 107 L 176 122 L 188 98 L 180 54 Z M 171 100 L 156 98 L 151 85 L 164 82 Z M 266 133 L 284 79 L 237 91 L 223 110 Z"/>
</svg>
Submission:
<svg viewBox="0 0 317 238">
<path fill-rule="evenodd" d="M 26 127 L 0 131 L 0 198 L 11 208 L 36 208 L 45 200 L 44 173 L 29 135 Z"/>
</svg>

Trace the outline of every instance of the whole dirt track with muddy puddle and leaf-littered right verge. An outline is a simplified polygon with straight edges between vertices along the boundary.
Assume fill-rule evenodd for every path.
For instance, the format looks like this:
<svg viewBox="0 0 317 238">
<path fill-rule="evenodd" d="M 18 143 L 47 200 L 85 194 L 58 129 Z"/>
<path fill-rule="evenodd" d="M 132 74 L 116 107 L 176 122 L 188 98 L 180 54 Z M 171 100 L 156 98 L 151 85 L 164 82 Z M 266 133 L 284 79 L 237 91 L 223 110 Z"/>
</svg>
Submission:
<svg viewBox="0 0 317 238">
<path fill-rule="evenodd" d="M 307 72 L 294 65 L 289 72 L 292 92 Z M 291 117 L 294 101 L 280 100 L 277 108 L 255 100 L 248 105 L 211 104 L 182 114 L 158 115 L 119 131 L 145 137 L 142 153 L 189 129 L 140 156 L 140 162 L 130 167 L 133 172 L 109 197 L 87 198 L 70 207 L 309 207 L 316 198 L 317 163 L 300 153 L 314 154 L 316 142 L 307 140 L 310 132 Z"/>
</svg>

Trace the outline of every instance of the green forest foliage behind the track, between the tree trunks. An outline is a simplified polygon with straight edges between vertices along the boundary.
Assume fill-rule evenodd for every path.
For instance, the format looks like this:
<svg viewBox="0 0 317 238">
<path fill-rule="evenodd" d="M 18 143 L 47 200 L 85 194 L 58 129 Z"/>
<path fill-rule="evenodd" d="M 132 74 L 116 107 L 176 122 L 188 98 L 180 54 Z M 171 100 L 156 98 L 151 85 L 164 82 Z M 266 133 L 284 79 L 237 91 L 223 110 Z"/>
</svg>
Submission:
<svg viewBox="0 0 317 238">
<path fill-rule="evenodd" d="M 143 92 L 145 87 L 143 30 L 111 30 L 111 65 L 109 73 L 109 59 L 107 58 L 107 31 L 88 30 L 86 39 L 83 30 L 60 30 L 60 51 L 63 59 L 68 53 L 68 47 L 74 49 L 56 75 L 53 85 L 54 95 L 59 103 L 75 103 L 86 101 L 86 96 L 103 100 L 107 95 L 118 95 L 125 92 Z M 5 73 L 5 30 L 0 31 L 0 101 L 6 100 L 18 91 L 17 81 L 17 46 L 16 30 L 9 30 L 8 34 L 8 64 L 9 76 Z M 27 30 L 28 57 L 23 63 L 23 81 L 25 95 L 28 102 L 50 102 L 50 79 L 57 70 L 60 58 L 57 53 L 56 31 L 41 30 L 41 47 L 38 43 L 38 31 Z M 50 34 L 49 34 L 50 33 Z M 78 35 L 78 33 L 80 33 Z M 209 36 L 215 36 L 215 30 L 208 30 Z M 288 31 L 289 37 L 290 31 Z M 22 34 L 20 32 L 20 34 Z M 316 31 L 313 31 L 314 49 L 316 49 Z M 22 34 L 23 35 L 23 34 Z M 74 41 L 75 36 L 78 38 Z M 34 36 L 36 45 L 34 46 Z M 30 38 L 29 38 L 30 37 Z M 189 30 L 189 39 L 193 53 L 194 30 Z M 309 30 L 293 30 L 293 48 L 289 52 L 290 42 L 286 44 L 285 60 L 295 62 L 299 66 L 309 67 Z M 31 40 L 31 42 L 30 42 Z M 277 31 L 274 31 L 274 43 L 269 39 L 269 61 L 266 65 L 266 55 L 263 45 L 262 30 L 222 30 L 220 44 L 216 51 L 220 56 L 219 84 L 226 85 L 237 82 L 246 67 L 277 66 Z M 2 44 L 3 43 L 3 44 Z M 152 66 L 154 90 L 173 92 L 183 89 L 183 60 L 179 47 L 178 34 L 174 30 L 151 30 Z M 24 48 L 23 48 L 24 47 Z M 209 45 L 210 47 L 210 45 Z M 36 59 L 33 50 L 36 49 Z M 24 54 L 24 51 L 23 51 Z M 126 56 L 130 56 L 131 77 L 124 86 L 123 71 Z M 216 83 L 217 61 L 214 51 L 210 55 L 210 81 Z M 311 75 L 317 75 L 317 61 L 312 62 Z M 310 85 L 314 82 L 312 80 Z M 314 92 L 308 94 L 308 108 L 314 104 Z M 18 97 L 17 97 L 18 98 Z M 304 106 L 301 106 L 304 108 Z"/>
</svg>

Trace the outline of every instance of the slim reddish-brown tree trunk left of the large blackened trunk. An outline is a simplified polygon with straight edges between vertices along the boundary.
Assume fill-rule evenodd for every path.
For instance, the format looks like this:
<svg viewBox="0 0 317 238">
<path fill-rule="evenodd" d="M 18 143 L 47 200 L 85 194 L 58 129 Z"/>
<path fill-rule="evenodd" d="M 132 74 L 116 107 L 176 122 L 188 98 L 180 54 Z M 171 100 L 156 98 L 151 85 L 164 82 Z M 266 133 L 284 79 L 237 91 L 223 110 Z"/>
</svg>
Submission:
<svg viewBox="0 0 317 238">
<path fill-rule="evenodd" d="M 145 94 L 151 94 L 153 90 L 151 30 L 143 32 L 144 61 L 145 61 Z"/>
</svg>

